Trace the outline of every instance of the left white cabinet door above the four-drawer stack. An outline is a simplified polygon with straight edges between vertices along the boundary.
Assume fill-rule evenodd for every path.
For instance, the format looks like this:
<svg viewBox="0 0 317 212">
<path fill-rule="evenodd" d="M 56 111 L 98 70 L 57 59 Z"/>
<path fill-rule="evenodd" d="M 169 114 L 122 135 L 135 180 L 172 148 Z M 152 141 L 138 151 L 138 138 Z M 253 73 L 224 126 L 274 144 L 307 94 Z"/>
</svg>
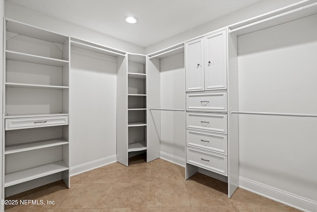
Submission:
<svg viewBox="0 0 317 212">
<path fill-rule="evenodd" d="M 203 38 L 186 43 L 186 91 L 204 90 L 203 43 Z"/>
</svg>

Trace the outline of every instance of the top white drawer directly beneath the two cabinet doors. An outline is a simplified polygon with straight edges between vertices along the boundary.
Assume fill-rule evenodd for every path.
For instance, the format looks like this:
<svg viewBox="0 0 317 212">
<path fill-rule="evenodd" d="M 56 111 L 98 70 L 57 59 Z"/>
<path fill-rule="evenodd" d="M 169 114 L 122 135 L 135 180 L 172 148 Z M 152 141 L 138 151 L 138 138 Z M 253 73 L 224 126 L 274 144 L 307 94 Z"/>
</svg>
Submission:
<svg viewBox="0 0 317 212">
<path fill-rule="evenodd" d="M 193 93 L 186 95 L 188 111 L 227 111 L 227 92 Z"/>
</svg>

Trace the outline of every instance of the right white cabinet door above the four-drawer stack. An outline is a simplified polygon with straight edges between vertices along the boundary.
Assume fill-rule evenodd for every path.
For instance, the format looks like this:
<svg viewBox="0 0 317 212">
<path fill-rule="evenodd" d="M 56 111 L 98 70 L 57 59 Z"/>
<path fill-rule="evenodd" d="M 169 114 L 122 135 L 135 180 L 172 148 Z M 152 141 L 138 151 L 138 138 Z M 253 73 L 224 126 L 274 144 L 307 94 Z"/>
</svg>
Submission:
<svg viewBox="0 0 317 212">
<path fill-rule="evenodd" d="M 227 88 L 225 31 L 205 37 L 205 90 Z"/>
</svg>

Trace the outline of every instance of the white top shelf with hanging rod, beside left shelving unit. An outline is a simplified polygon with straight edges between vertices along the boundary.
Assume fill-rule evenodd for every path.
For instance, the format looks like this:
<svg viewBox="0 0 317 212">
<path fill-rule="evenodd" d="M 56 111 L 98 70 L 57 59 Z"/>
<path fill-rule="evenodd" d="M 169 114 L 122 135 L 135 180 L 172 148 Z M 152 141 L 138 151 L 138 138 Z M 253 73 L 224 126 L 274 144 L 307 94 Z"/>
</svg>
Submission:
<svg viewBox="0 0 317 212">
<path fill-rule="evenodd" d="M 126 52 L 123 52 L 121 50 L 117 50 L 117 49 L 113 49 L 113 48 L 96 44 L 93 42 L 81 40 L 79 38 L 70 37 L 70 43 L 72 46 L 76 46 L 82 49 L 98 52 L 105 55 L 111 55 L 114 57 L 126 55 Z"/>
</svg>

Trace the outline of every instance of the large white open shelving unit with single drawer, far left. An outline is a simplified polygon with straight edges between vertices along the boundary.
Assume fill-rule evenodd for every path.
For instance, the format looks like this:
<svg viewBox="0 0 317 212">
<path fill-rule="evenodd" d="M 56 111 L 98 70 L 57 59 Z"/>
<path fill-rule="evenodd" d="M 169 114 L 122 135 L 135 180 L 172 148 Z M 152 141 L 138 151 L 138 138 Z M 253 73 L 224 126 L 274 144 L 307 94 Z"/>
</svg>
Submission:
<svg viewBox="0 0 317 212">
<path fill-rule="evenodd" d="M 2 192 L 56 179 L 70 187 L 69 36 L 11 19 L 4 25 Z"/>
</svg>

